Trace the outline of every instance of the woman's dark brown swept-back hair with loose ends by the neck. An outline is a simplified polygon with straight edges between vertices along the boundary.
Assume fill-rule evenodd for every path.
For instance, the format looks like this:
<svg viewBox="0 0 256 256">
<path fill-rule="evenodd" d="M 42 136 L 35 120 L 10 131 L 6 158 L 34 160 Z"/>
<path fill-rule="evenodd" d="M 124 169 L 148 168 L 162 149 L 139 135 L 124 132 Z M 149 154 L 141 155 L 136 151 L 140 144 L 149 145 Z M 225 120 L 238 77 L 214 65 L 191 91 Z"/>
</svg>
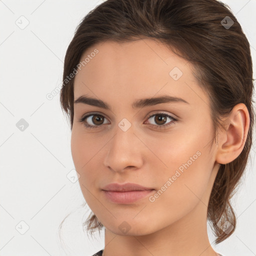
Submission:
<svg viewBox="0 0 256 256">
<path fill-rule="evenodd" d="M 233 21 L 230 27 L 222 25 L 226 18 Z M 106 0 L 97 5 L 76 27 L 66 50 L 60 90 L 62 111 L 72 129 L 74 79 L 67 77 L 76 70 L 88 47 L 107 40 L 121 43 L 142 38 L 162 42 L 192 64 L 193 75 L 209 96 L 214 139 L 217 128 L 223 127 L 221 117 L 228 116 L 238 103 L 248 109 L 250 122 L 244 147 L 233 161 L 220 164 L 209 197 L 207 220 L 216 236 L 215 244 L 219 243 L 236 227 L 230 199 L 247 164 L 255 118 L 250 45 L 228 5 L 217 0 Z M 228 232 L 226 223 L 231 226 Z M 103 228 L 93 212 L 83 225 L 90 233 Z"/>
</svg>

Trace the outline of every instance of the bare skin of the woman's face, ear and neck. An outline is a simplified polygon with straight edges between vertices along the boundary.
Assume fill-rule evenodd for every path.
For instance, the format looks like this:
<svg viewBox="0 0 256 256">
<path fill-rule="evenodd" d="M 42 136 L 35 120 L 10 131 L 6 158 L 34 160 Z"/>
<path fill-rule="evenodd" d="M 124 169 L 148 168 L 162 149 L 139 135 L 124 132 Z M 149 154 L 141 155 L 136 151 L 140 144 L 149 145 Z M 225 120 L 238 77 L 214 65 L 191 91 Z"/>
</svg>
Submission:
<svg viewBox="0 0 256 256">
<path fill-rule="evenodd" d="M 213 256 L 206 226 L 206 212 L 212 185 L 220 163 L 235 159 L 244 146 L 249 114 L 237 104 L 225 118 L 225 129 L 213 140 L 209 98 L 195 80 L 191 65 L 165 45 L 146 38 L 133 42 L 97 43 L 99 52 L 78 70 L 74 78 L 74 100 L 81 95 L 101 99 L 111 110 L 76 103 L 71 133 L 71 152 L 83 196 L 105 227 L 104 256 Z M 178 67 L 182 75 L 174 80 L 169 72 Z M 135 99 L 168 94 L 185 99 L 133 109 Z M 178 120 L 157 122 L 147 114 L 163 111 Z M 79 118 L 96 112 L 86 120 Z M 95 114 L 95 113 L 94 113 Z M 101 122 L 91 117 L 104 116 Z M 156 116 L 157 117 L 157 116 Z M 124 132 L 118 123 L 126 118 L 131 126 Z M 172 122 L 172 123 L 171 123 Z M 149 124 L 171 123 L 166 128 Z M 131 204 L 109 201 L 101 188 L 112 182 L 134 182 L 161 189 L 182 163 L 200 155 L 180 172 L 163 193 Z M 130 228 L 124 233 L 119 225 Z"/>
</svg>

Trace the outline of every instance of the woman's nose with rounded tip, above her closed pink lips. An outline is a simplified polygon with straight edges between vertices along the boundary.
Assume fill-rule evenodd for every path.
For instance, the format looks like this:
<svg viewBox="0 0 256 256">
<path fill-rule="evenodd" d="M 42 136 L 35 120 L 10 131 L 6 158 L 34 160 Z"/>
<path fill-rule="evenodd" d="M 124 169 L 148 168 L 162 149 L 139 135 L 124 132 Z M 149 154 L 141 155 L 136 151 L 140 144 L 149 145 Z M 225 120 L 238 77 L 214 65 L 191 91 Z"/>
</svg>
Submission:
<svg viewBox="0 0 256 256">
<path fill-rule="evenodd" d="M 115 131 L 105 147 L 107 154 L 104 165 L 115 172 L 141 168 L 146 146 L 134 133 L 132 126 L 126 131 L 117 126 Z"/>
</svg>

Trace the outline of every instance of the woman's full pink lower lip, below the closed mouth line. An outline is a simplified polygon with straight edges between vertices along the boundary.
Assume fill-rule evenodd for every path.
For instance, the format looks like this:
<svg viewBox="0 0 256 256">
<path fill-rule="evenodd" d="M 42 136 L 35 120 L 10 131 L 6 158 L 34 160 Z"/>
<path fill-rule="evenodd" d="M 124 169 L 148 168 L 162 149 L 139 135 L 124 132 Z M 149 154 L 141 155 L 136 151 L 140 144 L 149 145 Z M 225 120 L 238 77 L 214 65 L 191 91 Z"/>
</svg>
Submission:
<svg viewBox="0 0 256 256">
<path fill-rule="evenodd" d="M 114 203 L 122 203 L 128 204 L 134 201 L 137 201 L 141 198 L 144 198 L 148 194 L 150 194 L 154 189 L 151 190 L 140 190 L 140 191 L 126 191 L 126 192 L 118 192 L 118 191 L 106 191 L 103 190 L 105 196 Z"/>
</svg>

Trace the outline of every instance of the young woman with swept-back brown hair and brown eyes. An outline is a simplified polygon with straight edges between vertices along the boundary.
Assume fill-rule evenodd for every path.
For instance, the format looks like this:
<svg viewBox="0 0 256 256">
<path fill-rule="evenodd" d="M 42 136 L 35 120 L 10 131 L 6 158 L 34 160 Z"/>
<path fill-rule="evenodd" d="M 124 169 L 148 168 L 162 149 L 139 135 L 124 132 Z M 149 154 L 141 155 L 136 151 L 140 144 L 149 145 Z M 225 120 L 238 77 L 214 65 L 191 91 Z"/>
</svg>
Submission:
<svg viewBox="0 0 256 256">
<path fill-rule="evenodd" d="M 249 43 L 216 0 L 106 0 L 77 27 L 61 107 L 94 255 L 221 255 L 252 144 Z"/>
</svg>

